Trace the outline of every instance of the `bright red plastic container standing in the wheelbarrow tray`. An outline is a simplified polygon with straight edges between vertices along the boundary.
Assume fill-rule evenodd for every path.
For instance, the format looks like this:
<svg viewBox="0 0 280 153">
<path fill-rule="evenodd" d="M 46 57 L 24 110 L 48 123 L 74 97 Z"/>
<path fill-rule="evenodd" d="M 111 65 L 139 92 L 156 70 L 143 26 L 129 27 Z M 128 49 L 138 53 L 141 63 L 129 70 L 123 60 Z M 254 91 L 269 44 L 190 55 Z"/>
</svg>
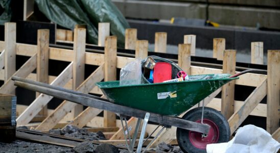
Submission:
<svg viewBox="0 0 280 153">
<path fill-rule="evenodd" d="M 154 67 L 154 83 L 171 80 L 172 67 L 170 63 L 158 62 Z"/>
</svg>

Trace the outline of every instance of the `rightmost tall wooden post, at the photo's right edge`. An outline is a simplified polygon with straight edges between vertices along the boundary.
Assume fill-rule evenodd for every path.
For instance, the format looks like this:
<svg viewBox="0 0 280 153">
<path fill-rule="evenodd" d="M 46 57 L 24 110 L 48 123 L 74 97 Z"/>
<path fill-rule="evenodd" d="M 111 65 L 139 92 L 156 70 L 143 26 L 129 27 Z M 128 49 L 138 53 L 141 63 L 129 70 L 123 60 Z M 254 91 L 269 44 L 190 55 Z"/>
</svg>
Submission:
<svg viewBox="0 0 280 153">
<path fill-rule="evenodd" d="M 267 118 L 266 130 L 272 134 L 279 127 L 280 50 L 267 52 Z"/>
</svg>

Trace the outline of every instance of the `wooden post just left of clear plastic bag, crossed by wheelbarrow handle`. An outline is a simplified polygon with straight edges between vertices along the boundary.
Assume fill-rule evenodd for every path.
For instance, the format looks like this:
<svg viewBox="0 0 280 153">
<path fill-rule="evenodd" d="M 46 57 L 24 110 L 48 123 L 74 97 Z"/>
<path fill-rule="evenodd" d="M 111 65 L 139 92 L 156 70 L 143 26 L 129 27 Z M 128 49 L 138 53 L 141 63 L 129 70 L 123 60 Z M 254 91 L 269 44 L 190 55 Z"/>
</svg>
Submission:
<svg viewBox="0 0 280 153">
<path fill-rule="evenodd" d="M 104 55 L 104 81 L 114 81 L 116 80 L 116 36 L 106 37 Z M 104 111 L 104 127 L 112 126 L 116 126 L 115 114 Z"/>
</svg>

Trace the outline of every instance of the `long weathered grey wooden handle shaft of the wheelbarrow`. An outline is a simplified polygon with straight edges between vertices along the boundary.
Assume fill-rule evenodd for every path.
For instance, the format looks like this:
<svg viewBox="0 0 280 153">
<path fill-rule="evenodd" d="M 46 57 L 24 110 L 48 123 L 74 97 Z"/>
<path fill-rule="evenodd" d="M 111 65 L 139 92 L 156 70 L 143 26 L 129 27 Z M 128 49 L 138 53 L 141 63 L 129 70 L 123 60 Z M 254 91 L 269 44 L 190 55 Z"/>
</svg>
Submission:
<svg viewBox="0 0 280 153">
<path fill-rule="evenodd" d="M 14 81 L 14 85 L 32 91 L 40 92 L 43 94 L 51 95 L 60 99 L 72 101 L 74 103 L 81 104 L 83 106 L 93 107 L 93 108 L 111 111 L 119 114 L 125 114 L 127 116 L 145 118 L 145 114 L 147 113 L 146 111 L 133 109 L 126 106 L 116 105 L 105 100 L 89 98 L 89 97 L 68 93 L 65 91 L 59 91 L 51 88 L 41 87 L 38 85 L 33 85 L 25 82 Z M 157 122 L 159 124 L 176 126 L 176 127 L 180 127 L 181 129 L 186 129 L 186 130 L 200 132 L 200 133 L 208 133 L 209 130 L 209 125 L 206 124 L 196 123 L 181 118 L 164 116 L 155 113 L 150 113 L 149 120 Z"/>
</svg>

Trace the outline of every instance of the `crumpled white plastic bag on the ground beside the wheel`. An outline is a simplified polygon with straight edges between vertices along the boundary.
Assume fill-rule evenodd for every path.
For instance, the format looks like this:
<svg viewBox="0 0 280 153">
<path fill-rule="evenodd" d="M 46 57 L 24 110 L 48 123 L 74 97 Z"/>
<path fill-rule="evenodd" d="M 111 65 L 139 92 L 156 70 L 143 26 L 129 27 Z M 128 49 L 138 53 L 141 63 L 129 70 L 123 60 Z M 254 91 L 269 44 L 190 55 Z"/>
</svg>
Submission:
<svg viewBox="0 0 280 153">
<path fill-rule="evenodd" d="M 232 140 L 227 143 L 208 144 L 206 151 L 207 153 L 271 153 L 277 152 L 279 148 L 280 143 L 264 129 L 254 125 L 245 125 L 237 131 Z"/>
</svg>

